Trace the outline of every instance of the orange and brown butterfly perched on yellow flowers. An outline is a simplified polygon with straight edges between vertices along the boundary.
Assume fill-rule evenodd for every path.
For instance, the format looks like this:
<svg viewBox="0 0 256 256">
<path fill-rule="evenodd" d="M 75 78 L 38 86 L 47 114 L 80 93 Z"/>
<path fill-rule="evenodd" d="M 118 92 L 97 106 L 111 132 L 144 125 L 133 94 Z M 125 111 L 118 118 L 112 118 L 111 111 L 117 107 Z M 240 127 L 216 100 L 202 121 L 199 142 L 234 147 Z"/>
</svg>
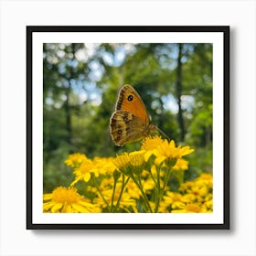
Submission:
<svg viewBox="0 0 256 256">
<path fill-rule="evenodd" d="M 110 120 L 110 133 L 114 144 L 122 146 L 132 143 L 155 131 L 163 133 L 150 123 L 144 102 L 133 86 L 124 85 L 119 91 L 115 112 Z"/>
</svg>

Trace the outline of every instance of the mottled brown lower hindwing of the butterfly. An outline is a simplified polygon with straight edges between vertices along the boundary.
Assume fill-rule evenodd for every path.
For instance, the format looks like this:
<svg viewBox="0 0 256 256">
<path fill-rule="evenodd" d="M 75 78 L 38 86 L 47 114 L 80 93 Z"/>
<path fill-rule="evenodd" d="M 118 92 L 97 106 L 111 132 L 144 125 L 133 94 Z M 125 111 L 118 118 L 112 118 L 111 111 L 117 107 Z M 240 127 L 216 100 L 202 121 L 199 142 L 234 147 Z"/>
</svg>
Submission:
<svg viewBox="0 0 256 256">
<path fill-rule="evenodd" d="M 145 123 L 132 112 L 113 112 L 110 122 L 110 133 L 114 144 L 122 146 L 125 143 L 138 141 L 144 137 Z"/>
</svg>

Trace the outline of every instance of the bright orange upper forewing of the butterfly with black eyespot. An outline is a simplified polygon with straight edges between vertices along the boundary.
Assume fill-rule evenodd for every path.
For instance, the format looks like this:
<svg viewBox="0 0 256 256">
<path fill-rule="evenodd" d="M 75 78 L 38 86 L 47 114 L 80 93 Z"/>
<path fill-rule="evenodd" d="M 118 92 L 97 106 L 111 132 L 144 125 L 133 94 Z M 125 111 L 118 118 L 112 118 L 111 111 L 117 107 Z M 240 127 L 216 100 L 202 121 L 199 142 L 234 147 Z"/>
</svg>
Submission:
<svg viewBox="0 0 256 256">
<path fill-rule="evenodd" d="M 126 84 L 119 91 L 118 99 L 115 105 L 115 111 L 131 112 L 134 116 L 140 118 L 145 125 L 149 124 L 149 116 L 146 112 L 144 102 L 140 95 L 133 89 L 133 86 Z"/>
</svg>

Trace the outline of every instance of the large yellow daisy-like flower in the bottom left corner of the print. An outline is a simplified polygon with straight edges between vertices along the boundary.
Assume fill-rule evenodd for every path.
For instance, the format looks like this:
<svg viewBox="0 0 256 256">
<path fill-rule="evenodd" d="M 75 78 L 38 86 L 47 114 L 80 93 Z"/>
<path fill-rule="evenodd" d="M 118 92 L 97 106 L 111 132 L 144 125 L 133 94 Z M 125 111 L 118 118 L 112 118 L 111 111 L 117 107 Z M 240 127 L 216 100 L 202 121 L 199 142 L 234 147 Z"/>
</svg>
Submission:
<svg viewBox="0 0 256 256">
<path fill-rule="evenodd" d="M 43 198 L 44 212 L 99 212 L 99 208 L 87 202 L 74 187 L 57 187 L 52 193 L 45 194 Z"/>
</svg>

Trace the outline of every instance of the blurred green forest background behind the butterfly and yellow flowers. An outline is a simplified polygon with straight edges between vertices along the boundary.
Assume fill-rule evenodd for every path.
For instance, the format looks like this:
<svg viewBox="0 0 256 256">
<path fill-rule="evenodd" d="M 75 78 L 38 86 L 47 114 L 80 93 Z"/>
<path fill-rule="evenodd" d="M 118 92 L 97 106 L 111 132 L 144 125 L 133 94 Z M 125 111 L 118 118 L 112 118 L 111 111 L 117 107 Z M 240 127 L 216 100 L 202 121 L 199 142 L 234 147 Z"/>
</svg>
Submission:
<svg viewBox="0 0 256 256">
<path fill-rule="evenodd" d="M 68 155 L 138 150 L 112 143 L 109 120 L 131 84 L 156 124 L 189 145 L 186 179 L 212 171 L 212 44 L 44 44 L 44 192 L 69 186 Z"/>
</svg>

